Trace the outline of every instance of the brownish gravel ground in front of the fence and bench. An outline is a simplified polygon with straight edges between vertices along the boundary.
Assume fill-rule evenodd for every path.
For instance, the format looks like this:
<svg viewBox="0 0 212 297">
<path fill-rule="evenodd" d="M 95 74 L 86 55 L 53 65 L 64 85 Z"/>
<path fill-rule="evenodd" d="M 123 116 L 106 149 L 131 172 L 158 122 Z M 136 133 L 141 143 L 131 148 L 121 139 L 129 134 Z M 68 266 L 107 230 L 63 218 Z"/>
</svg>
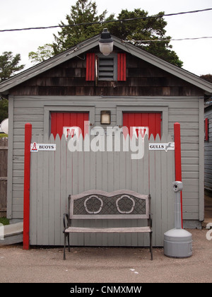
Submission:
<svg viewBox="0 0 212 297">
<path fill-rule="evenodd" d="M 189 229 L 192 257 L 165 257 L 163 248 L 0 248 L 0 282 L 13 283 L 211 283 L 212 240 L 208 230 Z M 212 232 L 212 231 L 211 231 Z M 212 234 L 211 234 L 212 235 Z"/>
</svg>

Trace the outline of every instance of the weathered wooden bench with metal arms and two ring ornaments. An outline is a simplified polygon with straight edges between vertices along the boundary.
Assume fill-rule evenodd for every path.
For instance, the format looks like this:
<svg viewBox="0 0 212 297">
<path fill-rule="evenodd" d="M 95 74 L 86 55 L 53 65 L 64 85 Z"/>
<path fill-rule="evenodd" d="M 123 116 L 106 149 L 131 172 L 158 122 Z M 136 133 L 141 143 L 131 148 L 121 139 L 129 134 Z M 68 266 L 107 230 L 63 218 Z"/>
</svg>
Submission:
<svg viewBox="0 0 212 297">
<path fill-rule="evenodd" d="M 146 219 L 147 223 L 143 227 L 87 228 L 71 226 L 74 219 Z M 149 233 L 151 260 L 153 260 L 151 196 L 129 190 L 111 193 L 89 190 L 69 195 L 69 214 L 64 214 L 63 232 L 64 260 L 66 260 L 66 238 L 69 244 L 70 233 Z"/>
</svg>

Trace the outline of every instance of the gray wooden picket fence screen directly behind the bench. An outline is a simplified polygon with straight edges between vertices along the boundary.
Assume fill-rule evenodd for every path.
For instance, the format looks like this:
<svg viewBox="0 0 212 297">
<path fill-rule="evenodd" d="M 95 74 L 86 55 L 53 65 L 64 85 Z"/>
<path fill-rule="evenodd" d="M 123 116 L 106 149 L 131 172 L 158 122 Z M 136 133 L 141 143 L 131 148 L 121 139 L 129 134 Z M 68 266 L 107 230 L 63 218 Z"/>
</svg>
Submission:
<svg viewBox="0 0 212 297">
<path fill-rule="evenodd" d="M 171 136 L 161 141 L 171 141 Z M 33 142 L 42 143 L 42 136 L 33 136 Z M 151 136 L 151 140 L 154 141 Z M 157 136 L 157 142 L 160 138 Z M 71 153 L 63 136 L 51 136 L 49 143 L 56 143 L 57 150 L 31 154 L 30 187 L 30 244 L 62 245 L 62 217 L 68 210 L 69 194 L 85 190 L 133 190 L 151 193 L 153 213 L 153 244 L 163 245 L 163 233 L 174 226 L 175 176 L 174 151 L 148 151 L 144 144 L 144 157 L 131 159 L 129 152 L 78 152 Z M 122 147 L 122 145 L 121 145 Z M 149 163 L 150 162 L 150 163 Z M 104 167 L 104 168 L 103 168 Z M 76 226 L 138 226 L 138 220 L 76 221 Z M 100 225 L 98 225 L 100 224 Z M 72 245 L 124 245 L 146 246 L 146 234 L 73 234 Z"/>
</svg>

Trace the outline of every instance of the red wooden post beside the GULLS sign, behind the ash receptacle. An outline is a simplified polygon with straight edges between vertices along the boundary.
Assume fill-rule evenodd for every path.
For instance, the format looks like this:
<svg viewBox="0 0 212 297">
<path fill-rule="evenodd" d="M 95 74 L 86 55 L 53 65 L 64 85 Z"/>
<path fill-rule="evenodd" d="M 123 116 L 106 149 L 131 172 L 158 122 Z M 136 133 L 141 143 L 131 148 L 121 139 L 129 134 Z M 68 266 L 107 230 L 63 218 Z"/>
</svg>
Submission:
<svg viewBox="0 0 212 297">
<path fill-rule="evenodd" d="M 180 140 L 180 124 L 174 124 L 175 134 L 175 180 L 182 182 L 182 167 L 181 167 L 181 140 Z M 182 225 L 182 191 L 180 193 L 181 204 L 181 225 Z M 183 228 L 183 225 L 182 225 Z"/>
</svg>

